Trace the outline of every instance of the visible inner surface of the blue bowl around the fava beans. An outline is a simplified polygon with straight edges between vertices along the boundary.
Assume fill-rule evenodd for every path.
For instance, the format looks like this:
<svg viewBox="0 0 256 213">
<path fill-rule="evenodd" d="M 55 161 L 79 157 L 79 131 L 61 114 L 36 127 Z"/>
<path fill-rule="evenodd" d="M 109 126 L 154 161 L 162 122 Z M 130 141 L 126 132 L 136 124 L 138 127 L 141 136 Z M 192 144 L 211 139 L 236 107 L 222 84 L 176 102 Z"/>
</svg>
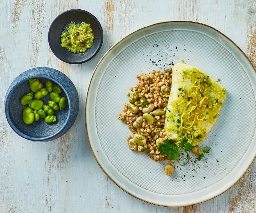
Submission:
<svg viewBox="0 0 256 213">
<path fill-rule="evenodd" d="M 46 78 L 38 78 L 38 79 L 43 84 L 43 87 L 45 87 L 45 82 L 47 79 Z M 58 84 L 57 82 L 54 82 L 54 81 L 53 83 Z M 58 85 L 62 87 L 60 84 Z M 8 109 L 9 109 L 10 119 L 13 125 L 23 134 L 30 137 L 34 137 L 34 138 L 43 138 L 43 137 L 51 136 L 57 133 L 59 130 L 61 130 L 61 128 L 63 128 L 66 120 L 68 119 L 68 104 L 62 110 L 57 110 L 57 111 L 54 110 L 54 115 L 57 117 L 57 120 L 52 124 L 47 124 L 45 123 L 43 118 L 40 118 L 39 121 L 37 122 L 34 121 L 32 124 L 27 125 L 23 122 L 23 119 L 22 119 L 23 105 L 20 103 L 20 99 L 25 94 L 30 92 L 31 90 L 29 88 L 28 80 L 20 83 L 12 92 Z M 66 94 L 62 91 L 60 96 L 66 97 Z M 44 102 L 45 105 L 48 105 L 48 100 L 51 100 L 49 97 L 49 93 L 44 98 L 41 98 L 41 100 Z"/>
</svg>

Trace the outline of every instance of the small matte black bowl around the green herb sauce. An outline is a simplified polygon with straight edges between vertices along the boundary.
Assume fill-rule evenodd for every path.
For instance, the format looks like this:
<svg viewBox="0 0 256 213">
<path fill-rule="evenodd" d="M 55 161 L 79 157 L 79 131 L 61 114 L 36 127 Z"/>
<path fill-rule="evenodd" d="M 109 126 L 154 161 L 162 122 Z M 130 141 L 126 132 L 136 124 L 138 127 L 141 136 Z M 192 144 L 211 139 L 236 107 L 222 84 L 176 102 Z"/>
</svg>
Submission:
<svg viewBox="0 0 256 213">
<path fill-rule="evenodd" d="M 72 53 L 66 48 L 61 47 L 60 35 L 67 23 L 74 21 L 76 23 L 85 22 L 90 24 L 94 34 L 93 45 L 85 53 Z M 72 9 L 58 15 L 49 28 L 48 42 L 54 55 L 61 61 L 69 64 L 81 64 L 92 59 L 100 50 L 103 42 L 103 31 L 99 21 L 91 13 Z"/>
</svg>

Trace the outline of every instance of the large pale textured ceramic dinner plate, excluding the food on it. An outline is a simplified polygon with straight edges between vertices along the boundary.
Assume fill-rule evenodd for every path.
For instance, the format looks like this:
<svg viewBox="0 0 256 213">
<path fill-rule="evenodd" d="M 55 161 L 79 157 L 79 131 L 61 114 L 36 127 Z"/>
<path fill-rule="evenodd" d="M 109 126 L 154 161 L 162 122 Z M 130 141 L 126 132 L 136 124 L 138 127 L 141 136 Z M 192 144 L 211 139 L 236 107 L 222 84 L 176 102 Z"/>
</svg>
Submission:
<svg viewBox="0 0 256 213">
<path fill-rule="evenodd" d="M 137 75 L 182 62 L 196 66 L 227 89 L 216 124 L 201 144 L 211 151 L 198 161 L 158 163 L 129 149 L 131 134 L 118 120 Z M 256 73 L 245 54 L 225 35 L 195 22 L 163 22 L 126 36 L 101 58 L 86 98 L 86 130 L 93 155 L 121 189 L 143 201 L 185 206 L 220 195 L 245 173 L 256 155 Z"/>
</svg>

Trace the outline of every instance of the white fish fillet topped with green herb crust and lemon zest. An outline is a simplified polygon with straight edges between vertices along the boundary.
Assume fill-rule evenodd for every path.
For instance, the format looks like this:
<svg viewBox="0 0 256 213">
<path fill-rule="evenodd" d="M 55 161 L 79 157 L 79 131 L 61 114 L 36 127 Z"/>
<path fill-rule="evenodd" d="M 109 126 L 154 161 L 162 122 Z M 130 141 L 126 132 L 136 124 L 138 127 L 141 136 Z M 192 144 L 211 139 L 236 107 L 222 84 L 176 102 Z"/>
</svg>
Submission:
<svg viewBox="0 0 256 213">
<path fill-rule="evenodd" d="M 198 68 L 178 63 L 173 66 L 165 131 L 179 145 L 183 137 L 195 146 L 215 124 L 227 90 Z"/>
</svg>

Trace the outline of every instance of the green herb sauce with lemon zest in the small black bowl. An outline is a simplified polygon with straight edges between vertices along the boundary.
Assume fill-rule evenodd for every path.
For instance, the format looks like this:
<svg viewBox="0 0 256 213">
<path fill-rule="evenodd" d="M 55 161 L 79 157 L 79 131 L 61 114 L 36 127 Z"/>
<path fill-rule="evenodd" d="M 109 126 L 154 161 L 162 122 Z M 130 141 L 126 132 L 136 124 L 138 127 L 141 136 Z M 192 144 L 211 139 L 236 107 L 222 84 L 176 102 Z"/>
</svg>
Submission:
<svg viewBox="0 0 256 213">
<path fill-rule="evenodd" d="M 90 49 L 94 35 L 88 23 L 70 22 L 60 35 L 61 47 L 73 53 L 84 53 Z"/>
</svg>

